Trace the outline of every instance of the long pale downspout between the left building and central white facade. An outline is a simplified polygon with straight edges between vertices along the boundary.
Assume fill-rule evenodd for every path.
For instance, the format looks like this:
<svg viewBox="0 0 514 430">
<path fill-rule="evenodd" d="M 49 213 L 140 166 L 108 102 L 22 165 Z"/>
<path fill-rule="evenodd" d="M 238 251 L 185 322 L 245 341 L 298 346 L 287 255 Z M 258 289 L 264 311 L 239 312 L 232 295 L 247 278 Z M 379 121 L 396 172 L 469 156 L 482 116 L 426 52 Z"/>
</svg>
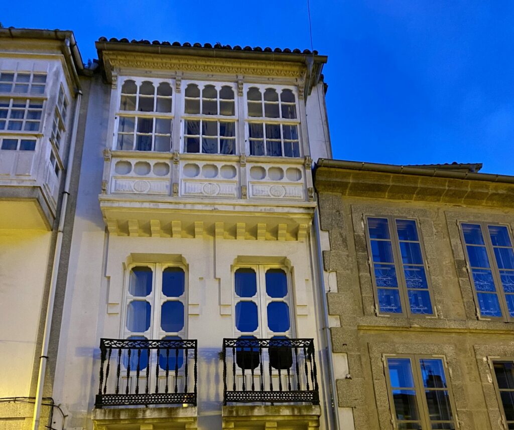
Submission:
<svg viewBox="0 0 514 430">
<path fill-rule="evenodd" d="M 69 48 L 68 48 L 69 49 Z M 79 123 L 79 113 L 80 113 L 80 102 L 82 98 L 82 91 L 77 91 L 77 101 L 75 103 L 75 115 L 73 119 L 73 128 L 71 131 L 71 142 L 68 152 L 68 163 L 66 166 L 66 179 L 64 183 L 64 191 L 63 191 L 63 199 L 61 202 L 61 214 L 59 217 L 59 227 L 57 230 L 57 240 L 56 240 L 56 249 L 53 254 L 53 265 L 52 265 L 52 275 L 50 280 L 50 291 L 48 292 L 48 305 L 46 308 L 46 319 L 45 319 L 45 329 L 43 333 L 43 345 L 41 347 L 41 356 L 40 356 L 40 364 L 39 364 L 39 374 L 38 374 L 38 387 L 36 388 L 35 395 L 35 404 L 34 404 L 34 417 L 32 419 L 32 430 L 39 429 L 39 421 L 41 417 L 41 407 L 43 400 L 43 390 L 45 385 L 45 372 L 46 372 L 46 364 L 48 361 L 48 345 L 50 341 L 50 328 L 52 324 L 53 317 L 53 304 L 56 298 L 56 290 L 57 290 L 57 276 L 59 273 L 59 263 L 61 260 L 61 249 L 62 249 L 62 241 L 63 241 L 63 228 L 64 228 L 64 220 L 66 217 L 66 207 L 68 203 L 68 195 L 69 195 L 69 186 L 71 181 L 71 167 L 73 165 L 74 154 L 75 154 L 75 144 L 77 141 L 77 127 Z"/>
</svg>

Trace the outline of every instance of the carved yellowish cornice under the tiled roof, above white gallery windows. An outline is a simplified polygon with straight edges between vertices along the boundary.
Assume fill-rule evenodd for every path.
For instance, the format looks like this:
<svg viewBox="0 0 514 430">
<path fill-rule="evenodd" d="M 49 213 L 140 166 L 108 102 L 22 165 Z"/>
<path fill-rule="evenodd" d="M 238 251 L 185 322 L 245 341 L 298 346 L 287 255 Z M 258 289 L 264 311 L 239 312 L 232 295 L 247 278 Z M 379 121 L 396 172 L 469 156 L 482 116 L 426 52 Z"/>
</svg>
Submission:
<svg viewBox="0 0 514 430">
<path fill-rule="evenodd" d="M 113 70 L 124 68 L 273 76 L 292 79 L 302 79 L 306 72 L 306 66 L 302 63 L 283 61 L 206 58 L 115 51 L 103 51 L 102 57 L 108 81 L 112 79 Z"/>
</svg>

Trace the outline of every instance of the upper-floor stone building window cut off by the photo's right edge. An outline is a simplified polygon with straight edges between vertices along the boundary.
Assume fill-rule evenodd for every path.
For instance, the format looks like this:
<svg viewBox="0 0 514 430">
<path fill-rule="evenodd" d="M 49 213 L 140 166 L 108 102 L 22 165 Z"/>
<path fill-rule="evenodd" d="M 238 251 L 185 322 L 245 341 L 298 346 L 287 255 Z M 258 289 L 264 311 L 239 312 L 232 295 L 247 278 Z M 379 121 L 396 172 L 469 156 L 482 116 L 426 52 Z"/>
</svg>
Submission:
<svg viewBox="0 0 514 430">
<path fill-rule="evenodd" d="M 514 250 L 506 226 L 461 223 L 470 278 L 480 316 L 514 317 Z"/>
</svg>

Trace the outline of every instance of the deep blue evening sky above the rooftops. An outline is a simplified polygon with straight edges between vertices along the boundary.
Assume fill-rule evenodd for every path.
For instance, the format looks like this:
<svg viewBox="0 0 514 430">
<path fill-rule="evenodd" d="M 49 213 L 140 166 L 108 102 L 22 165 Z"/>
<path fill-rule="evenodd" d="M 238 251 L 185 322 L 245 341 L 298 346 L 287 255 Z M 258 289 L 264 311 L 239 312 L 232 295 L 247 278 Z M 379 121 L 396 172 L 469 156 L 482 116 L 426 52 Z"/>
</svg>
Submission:
<svg viewBox="0 0 514 430">
<path fill-rule="evenodd" d="M 5 27 L 74 30 L 84 61 L 107 38 L 310 49 L 307 0 L 24 2 Z M 483 162 L 514 175 L 514 1 L 311 0 L 328 55 L 334 157 Z M 30 11 L 30 13 L 28 13 Z"/>
</svg>

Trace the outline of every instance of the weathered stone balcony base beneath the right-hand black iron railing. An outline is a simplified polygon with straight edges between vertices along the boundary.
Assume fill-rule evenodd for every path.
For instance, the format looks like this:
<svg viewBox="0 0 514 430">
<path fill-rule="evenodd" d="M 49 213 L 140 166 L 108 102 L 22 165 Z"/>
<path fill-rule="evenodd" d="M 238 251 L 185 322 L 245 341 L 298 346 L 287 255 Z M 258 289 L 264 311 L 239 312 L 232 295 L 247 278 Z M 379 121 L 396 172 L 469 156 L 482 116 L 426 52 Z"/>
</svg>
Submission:
<svg viewBox="0 0 514 430">
<path fill-rule="evenodd" d="M 287 428 L 315 430 L 320 426 L 319 405 L 223 406 L 223 429 Z"/>
</svg>

